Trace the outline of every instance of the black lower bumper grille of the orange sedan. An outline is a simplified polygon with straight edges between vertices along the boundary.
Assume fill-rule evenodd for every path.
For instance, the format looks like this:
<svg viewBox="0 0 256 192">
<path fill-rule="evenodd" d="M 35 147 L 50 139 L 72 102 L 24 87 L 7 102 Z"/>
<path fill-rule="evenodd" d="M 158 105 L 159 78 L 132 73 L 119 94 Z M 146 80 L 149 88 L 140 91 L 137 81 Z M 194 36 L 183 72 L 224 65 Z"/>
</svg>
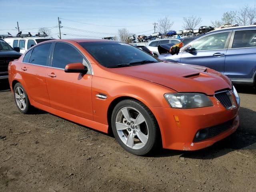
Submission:
<svg viewBox="0 0 256 192">
<path fill-rule="evenodd" d="M 216 126 L 204 128 L 200 130 L 201 135 L 198 138 L 196 138 L 196 136 L 194 137 L 193 142 L 199 142 L 208 138 L 212 138 L 231 128 L 231 126 L 233 125 L 233 122 L 234 122 L 234 119 L 224 122 L 222 124 L 218 124 Z"/>
</svg>

